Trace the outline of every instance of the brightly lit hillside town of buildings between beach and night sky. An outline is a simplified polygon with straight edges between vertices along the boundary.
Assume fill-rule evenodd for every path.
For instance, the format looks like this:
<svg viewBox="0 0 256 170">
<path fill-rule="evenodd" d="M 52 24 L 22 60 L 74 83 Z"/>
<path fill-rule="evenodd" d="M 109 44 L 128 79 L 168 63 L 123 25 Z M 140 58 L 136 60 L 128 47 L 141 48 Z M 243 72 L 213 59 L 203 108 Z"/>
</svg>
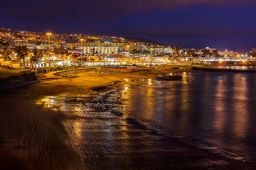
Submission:
<svg viewBox="0 0 256 170">
<path fill-rule="evenodd" d="M 227 49 L 225 51 L 218 51 L 216 48 L 210 47 L 201 49 L 178 48 L 170 47 L 167 45 L 152 45 L 145 42 L 130 42 L 121 37 L 114 37 L 113 40 L 108 37 L 108 40 L 100 41 L 100 39 L 102 38 L 100 36 L 92 38 L 90 36 L 82 36 L 81 34 L 67 34 L 65 37 L 65 34 L 55 34 L 55 36 L 52 37 L 51 42 L 50 36 L 52 35 L 52 33 L 45 34 L 48 36 L 48 40 L 44 36 L 40 38 L 40 36 L 36 34 L 34 35 L 26 31 L 24 31 L 23 33 L 20 32 L 19 34 L 29 34 L 29 36 L 27 36 L 26 38 L 23 37 L 22 40 L 20 40 L 20 38 L 15 39 L 15 37 L 12 37 L 12 41 L 14 41 L 13 43 L 15 43 L 16 45 L 26 45 L 29 49 L 38 48 L 43 50 L 44 52 L 42 59 L 49 61 L 49 67 L 51 66 L 51 64 L 57 64 L 54 61 L 50 62 L 50 54 L 52 54 L 53 57 L 56 57 L 56 59 L 58 58 L 58 60 L 64 62 L 65 58 L 72 58 L 69 56 L 71 53 L 79 54 L 79 58 L 81 57 L 81 60 L 79 62 L 79 65 L 81 63 L 81 68 L 83 67 L 83 59 L 88 58 L 87 55 L 97 55 L 98 57 L 93 57 L 94 59 L 89 57 L 89 62 L 106 62 L 108 61 L 108 59 L 113 58 L 115 61 L 115 65 L 121 65 L 122 62 L 126 62 L 127 65 L 140 62 L 151 62 L 158 65 L 163 63 L 174 65 L 178 64 L 179 62 L 185 62 L 185 64 L 204 63 L 208 65 L 217 62 L 219 62 L 220 64 L 225 64 L 226 62 L 232 61 L 241 62 L 244 64 L 245 59 L 249 59 L 247 53 L 238 53 Z M 43 35 L 43 33 L 40 34 Z M 37 37 L 37 40 L 35 39 L 35 37 Z M 76 40 L 68 42 L 67 40 L 70 37 L 76 37 Z M 0 38 L 3 39 L 7 37 Z M 41 40 L 39 40 L 38 38 L 40 38 Z M 41 44 L 36 44 L 37 42 L 41 42 Z M 63 53 L 64 48 L 68 49 L 66 51 L 68 52 L 68 54 L 66 54 L 67 57 L 65 57 Z M 250 52 L 250 54 L 252 54 L 252 52 Z M 12 57 L 14 57 L 17 54 L 15 55 L 15 53 L 12 52 L 11 55 Z M 30 56 L 32 56 L 32 53 L 29 53 L 29 56 L 27 57 L 28 60 Z M 48 59 L 46 59 L 47 57 Z M 250 55 L 250 60 L 254 61 L 255 57 Z M 45 66 L 45 64 L 38 65 L 37 67 L 43 66 Z"/>
</svg>

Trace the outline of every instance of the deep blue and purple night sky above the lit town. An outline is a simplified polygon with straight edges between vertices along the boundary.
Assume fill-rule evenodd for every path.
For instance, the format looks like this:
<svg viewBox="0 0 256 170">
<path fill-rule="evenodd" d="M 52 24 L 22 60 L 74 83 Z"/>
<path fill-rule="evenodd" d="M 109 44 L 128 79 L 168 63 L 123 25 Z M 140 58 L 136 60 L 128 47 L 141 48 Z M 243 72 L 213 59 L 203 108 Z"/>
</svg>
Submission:
<svg viewBox="0 0 256 170">
<path fill-rule="evenodd" d="M 1 0 L 0 27 L 249 51 L 256 46 L 255 7 L 256 0 Z"/>
</svg>

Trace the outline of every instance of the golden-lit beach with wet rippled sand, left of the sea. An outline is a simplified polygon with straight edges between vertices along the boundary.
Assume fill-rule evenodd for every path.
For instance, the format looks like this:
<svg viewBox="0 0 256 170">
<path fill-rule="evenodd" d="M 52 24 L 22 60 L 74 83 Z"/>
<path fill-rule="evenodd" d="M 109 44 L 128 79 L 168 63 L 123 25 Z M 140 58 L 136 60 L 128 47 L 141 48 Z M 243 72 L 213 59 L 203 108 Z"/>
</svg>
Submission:
<svg viewBox="0 0 256 170">
<path fill-rule="evenodd" d="M 2 90 L 0 168 L 253 169 L 247 162 L 180 143 L 120 103 L 119 94 L 143 85 L 144 79 L 183 71 L 192 70 L 88 71 L 76 78 L 48 74 L 34 84 Z M 99 86 L 108 89 L 91 89 Z"/>
</svg>

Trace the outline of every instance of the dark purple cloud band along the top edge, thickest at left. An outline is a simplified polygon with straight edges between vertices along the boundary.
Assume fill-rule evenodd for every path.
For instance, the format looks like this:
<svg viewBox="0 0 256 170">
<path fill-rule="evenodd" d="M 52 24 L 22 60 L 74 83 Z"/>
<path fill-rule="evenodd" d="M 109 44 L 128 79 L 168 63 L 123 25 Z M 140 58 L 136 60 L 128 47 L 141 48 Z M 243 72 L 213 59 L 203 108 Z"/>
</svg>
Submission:
<svg viewBox="0 0 256 170">
<path fill-rule="evenodd" d="M 111 22 L 124 14 L 151 10 L 172 10 L 178 6 L 214 7 L 254 5 L 255 0 L 8 0 L 1 12 L 17 18 L 35 20 L 80 20 L 87 23 Z M 33 17 L 32 17 L 33 16 Z"/>
</svg>

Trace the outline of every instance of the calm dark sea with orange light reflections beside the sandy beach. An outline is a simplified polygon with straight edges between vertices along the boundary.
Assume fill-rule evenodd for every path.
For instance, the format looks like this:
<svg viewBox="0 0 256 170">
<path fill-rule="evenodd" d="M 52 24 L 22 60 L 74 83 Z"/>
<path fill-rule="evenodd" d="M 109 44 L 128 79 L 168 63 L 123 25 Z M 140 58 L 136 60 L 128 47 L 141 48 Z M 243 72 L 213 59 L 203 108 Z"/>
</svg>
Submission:
<svg viewBox="0 0 256 170">
<path fill-rule="evenodd" d="M 125 108 L 177 136 L 256 162 L 256 74 L 183 73 L 126 91 Z"/>
</svg>

